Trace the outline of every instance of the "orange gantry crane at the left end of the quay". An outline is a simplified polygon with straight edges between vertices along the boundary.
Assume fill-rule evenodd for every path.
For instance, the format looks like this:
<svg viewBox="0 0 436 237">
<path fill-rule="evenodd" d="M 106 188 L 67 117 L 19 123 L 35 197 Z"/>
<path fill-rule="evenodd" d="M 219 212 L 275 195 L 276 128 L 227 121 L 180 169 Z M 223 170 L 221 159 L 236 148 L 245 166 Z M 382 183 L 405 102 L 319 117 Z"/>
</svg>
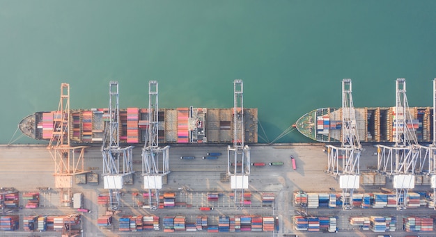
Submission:
<svg viewBox="0 0 436 237">
<path fill-rule="evenodd" d="M 60 189 L 61 206 L 70 206 L 72 179 L 84 171 L 86 146 L 70 146 L 70 85 L 61 84 L 59 107 L 53 113 L 53 132 L 47 149 L 54 161 L 54 186 Z"/>
</svg>

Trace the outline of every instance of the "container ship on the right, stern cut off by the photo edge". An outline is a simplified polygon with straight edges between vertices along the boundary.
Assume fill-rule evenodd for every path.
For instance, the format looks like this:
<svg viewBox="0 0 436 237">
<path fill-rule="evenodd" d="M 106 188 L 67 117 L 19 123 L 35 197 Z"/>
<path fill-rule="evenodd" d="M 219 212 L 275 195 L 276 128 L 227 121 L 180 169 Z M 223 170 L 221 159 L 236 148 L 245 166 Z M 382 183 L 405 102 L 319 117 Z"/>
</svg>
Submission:
<svg viewBox="0 0 436 237">
<path fill-rule="evenodd" d="M 433 107 L 410 107 L 418 142 L 433 141 Z M 395 142 L 395 107 L 355 108 L 356 126 L 361 142 Z M 304 136 L 318 142 L 341 142 L 342 108 L 318 108 L 300 117 L 294 124 Z"/>
</svg>

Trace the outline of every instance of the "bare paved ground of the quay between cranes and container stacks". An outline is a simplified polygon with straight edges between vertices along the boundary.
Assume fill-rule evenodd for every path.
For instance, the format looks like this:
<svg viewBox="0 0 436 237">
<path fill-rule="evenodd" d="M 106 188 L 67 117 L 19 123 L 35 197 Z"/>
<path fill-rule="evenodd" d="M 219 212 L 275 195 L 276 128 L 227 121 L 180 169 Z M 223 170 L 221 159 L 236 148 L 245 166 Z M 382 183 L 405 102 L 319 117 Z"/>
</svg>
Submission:
<svg viewBox="0 0 436 237">
<path fill-rule="evenodd" d="M 405 215 L 414 215 L 419 211 L 419 215 L 436 215 L 433 209 L 407 209 L 405 211 L 396 211 L 396 209 L 353 209 L 351 211 L 342 211 L 336 209 L 309 209 L 309 215 L 336 215 L 338 216 L 338 227 L 340 232 L 337 234 L 320 234 L 298 232 L 293 229 L 292 216 L 300 207 L 295 206 L 293 202 L 293 193 L 297 190 L 306 192 L 329 193 L 329 188 L 336 187 L 338 190 L 338 181 L 324 172 L 327 166 L 327 154 L 323 152 L 323 146 L 320 144 L 298 144 L 298 145 L 253 145 L 251 146 L 251 162 L 270 163 L 282 161 L 283 166 L 251 166 L 251 175 L 249 176 L 249 190 L 252 193 L 252 205 L 246 206 L 243 210 L 238 211 L 234 208 L 234 201 L 229 196 L 231 192 L 230 183 L 221 182 L 221 173 L 227 171 L 226 146 L 173 146 L 170 149 L 170 170 L 167 177 L 167 183 L 164 185 L 162 192 L 175 191 L 176 202 L 186 202 L 191 204 L 192 208 L 176 207 L 174 209 L 160 209 L 150 211 L 138 206 L 139 201 L 143 199 L 132 193 L 143 193 L 143 183 L 141 178 L 141 147 L 134 148 L 134 184 L 125 186 L 123 196 L 121 197 L 120 213 L 116 215 L 114 225 L 111 229 L 102 229 L 96 227 L 96 221 L 99 215 L 105 213 L 104 206 L 97 204 L 97 197 L 101 193 L 107 193 L 102 188 L 102 181 L 98 186 L 90 184 L 74 184 L 72 193 L 84 193 L 84 206 L 91 209 L 92 213 L 83 215 L 84 236 L 141 236 L 141 233 L 134 232 L 121 233 L 116 231 L 118 228 L 117 219 L 121 215 L 186 215 L 187 220 L 192 222 L 196 215 L 204 214 L 198 210 L 199 206 L 215 206 L 214 211 L 210 211 L 210 224 L 217 224 L 219 215 L 274 215 L 279 216 L 281 228 L 278 234 L 271 232 L 249 232 L 238 235 L 247 236 L 284 236 L 283 234 L 299 234 L 299 236 L 376 236 L 372 231 L 359 231 L 348 224 L 350 216 L 355 215 L 394 215 L 400 222 Z M 203 160 L 207 152 L 221 152 L 223 155 L 217 160 Z M 361 156 L 361 171 L 365 171 L 370 166 L 376 165 L 377 156 L 373 156 L 375 148 L 371 145 L 365 146 Z M 297 170 L 293 170 L 290 162 L 290 155 L 293 155 L 297 162 Z M 181 160 L 180 156 L 195 156 L 194 160 Z M 85 154 L 85 167 L 102 167 L 102 155 L 100 147 L 88 148 Z M 0 187 L 14 187 L 20 192 L 38 191 L 37 187 L 51 187 L 52 190 L 41 193 L 41 207 L 38 209 L 20 210 L 20 215 L 61 215 L 63 213 L 72 213 L 73 209 L 59 206 L 59 190 L 54 189 L 54 162 L 45 147 L 0 147 Z M 96 169 L 93 172 L 101 174 L 102 170 Z M 389 179 L 387 179 L 389 185 Z M 180 191 L 178 188 L 183 187 L 185 190 Z M 186 190 L 189 188 L 189 191 Z M 364 189 L 365 188 L 365 189 Z M 377 190 L 379 186 L 365 186 L 360 188 L 359 192 Z M 420 190 L 429 190 L 429 186 L 418 186 Z M 218 202 L 208 202 L 208 192 L 219 192 L 223 195 Z M 276 194 L 276 202 L 273 207 L 261 206 L 260 193 L 273 192 Z M 20 227 L 22 227 L 22 218 Z M 397 224 L 400 230 L 400 223 Z M 22 233 L 17 232 L 15 234 Z M 52 233 L 35 233 L 35 236 L 50 236 Z M 148 232 L 150 236 L 162 236 L 163 232 Z M 198 234 L 198 233 L 197 233 Z M 7 236 L 7 232 L 1 232 L 0 236 Z M 56 234 L 55 234 L 56 235 Z M 177 236 L 192 236 L 192 233 L 177 233 Z M 202 236 L 224 236 L 224 234 L 201 233 Z M 228 234 L 233 236 L 234 234 Z M 404 236 L 405 232 L 397 231 L 393 236 Z M 22 236 L 29 236 L 23 232 Z M 420 234 L 426 236 L 426 234 Z"/>
</svg>

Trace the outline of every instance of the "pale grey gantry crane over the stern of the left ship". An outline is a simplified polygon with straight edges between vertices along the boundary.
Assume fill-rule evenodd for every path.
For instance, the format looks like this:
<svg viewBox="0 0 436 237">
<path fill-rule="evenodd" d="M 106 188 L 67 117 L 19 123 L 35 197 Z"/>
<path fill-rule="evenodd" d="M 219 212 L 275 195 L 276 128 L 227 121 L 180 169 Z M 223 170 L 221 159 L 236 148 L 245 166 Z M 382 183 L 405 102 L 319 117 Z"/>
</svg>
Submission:
<svg viewBox="0 0 436 237">
<path fill-rule="evenodd" d="M 244 99 L 242 80 L 233 82 L 233 147 L 227 147 L 227 174 L 234 190 L 235 209 L 244 207 L 244 189 L 248 188 L 250 148 L 244 145 Z M 231 163 L 235 165 L 231 165 Z M 241 163 L 240 166 L 237 164 Z"/>
</svg>

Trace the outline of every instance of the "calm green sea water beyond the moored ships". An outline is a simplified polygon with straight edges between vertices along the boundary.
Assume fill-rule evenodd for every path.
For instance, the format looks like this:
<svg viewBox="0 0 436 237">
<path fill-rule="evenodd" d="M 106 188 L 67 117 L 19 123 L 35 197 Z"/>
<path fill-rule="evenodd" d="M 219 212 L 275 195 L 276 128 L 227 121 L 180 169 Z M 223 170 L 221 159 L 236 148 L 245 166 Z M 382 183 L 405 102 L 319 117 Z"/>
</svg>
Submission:
<svg viewBox="0 0 436 237">
<path fill-rule="evenodd" d="M 433 106 L 436 1 L 5 1 L 0 0 L 0 143 L 22 117 L 58 108 L 231 108 L 233 80 L 258 108 L 259 142 L 315 108 L 341 106 L 352 79 L 356 107 L 394 106 L 395 80 L 410 106 Z M 277 142 L 308 142 L 297 131 Z M 14 143 L 35 142 L 21 138 Z"/>
</svg>

